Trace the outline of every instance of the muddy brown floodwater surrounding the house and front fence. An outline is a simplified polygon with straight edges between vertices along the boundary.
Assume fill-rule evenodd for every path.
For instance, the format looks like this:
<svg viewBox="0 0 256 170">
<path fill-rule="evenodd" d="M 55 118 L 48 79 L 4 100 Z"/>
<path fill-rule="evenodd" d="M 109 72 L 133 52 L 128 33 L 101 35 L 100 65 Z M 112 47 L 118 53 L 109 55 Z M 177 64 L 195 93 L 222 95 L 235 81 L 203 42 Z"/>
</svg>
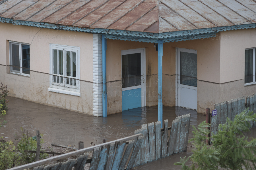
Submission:
<svg viewBox="0 0 256 170">
<path fill-rule="evenodd" d="M 44 145 L 46 148 L 51 143 L 62 145 L 71 145 L 77 147 L 79 141 L 84 142 L 84 147 L 106 141 L 113 141 L 122 137 L 134 134 L 134 131 L 141 128 L 142 124 L 156 122 L 158 119 L 158 108 L 143 107 L 123 111 L 108 115 L 108 117 L 95 117 L 67 109 L 42 105 L 15 97 L 7 97 L 9 105 L 5 120 L 7 124 L 0 129 L 0 136 L 6 141 L 20 139 L 22 127 L 34 136 L 36 130 L 43 133 Z M 168 119 L 169 126 L 172 121 L 180 115 L 191 114 L 190 125 L 197 126 L 205 120 L 203 114 L 194 110 L 184 109 L 181 107 L 163 106 L 163 120 Z M 190 126 L 189 136 L 192 137 L 192 127 Z M 169 132 L 170 134 L 170 132 Z M 180 169 L 174 166 L 180 157 L 191 155 L 191 150 L 182 152 L 167 158 L 148 163 L 138 167 L 139 169 Z M 153 168 L 161 167 L 161 168 Z"/>
</svg>

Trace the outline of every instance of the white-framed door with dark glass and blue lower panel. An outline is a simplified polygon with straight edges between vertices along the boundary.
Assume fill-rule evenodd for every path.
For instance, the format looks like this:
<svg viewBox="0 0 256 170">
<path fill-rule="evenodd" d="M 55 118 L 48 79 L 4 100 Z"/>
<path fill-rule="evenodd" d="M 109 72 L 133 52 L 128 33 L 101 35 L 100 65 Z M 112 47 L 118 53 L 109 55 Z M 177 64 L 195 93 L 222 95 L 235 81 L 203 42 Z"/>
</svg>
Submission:
<svg viewBox="0 0 256 170">
<path fill-rule="evenodd" d="M 122 50 L 122 110 L 146 106 L 145 48 Z"/>
</svg>

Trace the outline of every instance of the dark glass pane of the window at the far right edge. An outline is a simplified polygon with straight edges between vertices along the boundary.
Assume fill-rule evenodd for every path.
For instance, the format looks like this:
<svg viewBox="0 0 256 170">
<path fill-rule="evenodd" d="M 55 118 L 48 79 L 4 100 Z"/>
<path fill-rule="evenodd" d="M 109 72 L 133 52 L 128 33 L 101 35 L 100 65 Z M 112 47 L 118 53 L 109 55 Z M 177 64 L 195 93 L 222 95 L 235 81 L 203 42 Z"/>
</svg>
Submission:
<svg viewBox="0 0 256 170">
<path fill-rule="evenodd" d="M 253 82 L 253 49 L 245 50 L 244 83 Z"/>
</svg>

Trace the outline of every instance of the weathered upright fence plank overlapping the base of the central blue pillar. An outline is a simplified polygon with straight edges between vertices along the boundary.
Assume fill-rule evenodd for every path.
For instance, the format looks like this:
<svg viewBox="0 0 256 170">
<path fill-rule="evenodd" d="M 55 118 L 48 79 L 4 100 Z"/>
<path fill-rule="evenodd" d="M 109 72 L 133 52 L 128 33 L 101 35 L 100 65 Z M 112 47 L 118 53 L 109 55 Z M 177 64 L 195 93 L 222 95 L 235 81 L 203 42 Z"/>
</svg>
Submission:
<svg viewBox="0 0 256 170">
<path fill-rule="evenodd" d="M 161 143 L 161 137 L 162 137 L 162 132 L 161 132 L 161 122 L 155 122 L 156 126 L 156 160 L 161 158 L 161 152 L 162 152 L 162 143 Z M 173 129 L 173 128 L 172 128 Z"/>
</svg>

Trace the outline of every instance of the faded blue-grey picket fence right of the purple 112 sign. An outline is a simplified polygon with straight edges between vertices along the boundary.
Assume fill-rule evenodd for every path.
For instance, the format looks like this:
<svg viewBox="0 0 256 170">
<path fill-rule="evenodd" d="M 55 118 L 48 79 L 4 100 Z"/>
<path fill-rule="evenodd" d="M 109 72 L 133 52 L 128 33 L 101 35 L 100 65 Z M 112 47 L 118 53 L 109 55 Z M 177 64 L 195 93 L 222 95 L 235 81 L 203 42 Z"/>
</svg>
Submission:
<svg viewBox="0 0 256 170">
<path fill-rule="evenodd" d="M 248 107 L 250 111 L 256 113 L 256 94 L 215 104 L 214 109 L 217 109 L 217 115 L 211 118 L 211 133 L 216 134 L 219 124 L 226 123 L 227 118 L 234 120 L 237 114 Z M 256 126 L 256 122 L 251 121 L 250 123 L 252 128 Z"/>
</svg>

